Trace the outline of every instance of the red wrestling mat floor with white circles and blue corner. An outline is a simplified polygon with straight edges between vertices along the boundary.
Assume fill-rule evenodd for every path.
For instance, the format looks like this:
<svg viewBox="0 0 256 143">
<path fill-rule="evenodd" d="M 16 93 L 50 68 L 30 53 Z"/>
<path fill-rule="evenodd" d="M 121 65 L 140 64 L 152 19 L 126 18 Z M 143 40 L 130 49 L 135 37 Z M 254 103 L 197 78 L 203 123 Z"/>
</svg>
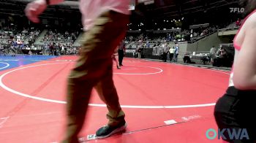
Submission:
<svg viewBox="0 0 256 143">
<path fill-rule="evenodd" d="M 0 56 L 0 142 L 60 142 L 64 136 L 65 91 L 76 56 Z M 124 58 L 114 82 L 128 123 L 124 134 L 89 142 L 222 142 L 214 104 L 229 72 L 174 63 Z M 80 136 L 107 123 L 107 109 L 92 92 Z"/>
</svg>

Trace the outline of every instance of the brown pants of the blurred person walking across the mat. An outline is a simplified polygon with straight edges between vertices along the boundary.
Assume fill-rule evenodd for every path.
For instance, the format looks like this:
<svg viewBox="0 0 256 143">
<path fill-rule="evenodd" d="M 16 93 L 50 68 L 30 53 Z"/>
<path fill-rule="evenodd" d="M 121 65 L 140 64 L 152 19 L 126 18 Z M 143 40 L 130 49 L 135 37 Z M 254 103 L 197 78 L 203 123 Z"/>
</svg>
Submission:
<svg viewBox="0 0 256 143">
<path fill-rule="evenodd" d="M 129 15 L 105 12 L 84 34 L 80 58 L 68 77 L 67 131 L 64 142 L 78 142 L 77 136 L 83 127 L 92 88 L 96 88 L 99 97 L 107 104 L 108 125 L 124 122 L 124 112 L 113 82 L 111 56 L 124 39 L 127 23 Z"/>
</svg>

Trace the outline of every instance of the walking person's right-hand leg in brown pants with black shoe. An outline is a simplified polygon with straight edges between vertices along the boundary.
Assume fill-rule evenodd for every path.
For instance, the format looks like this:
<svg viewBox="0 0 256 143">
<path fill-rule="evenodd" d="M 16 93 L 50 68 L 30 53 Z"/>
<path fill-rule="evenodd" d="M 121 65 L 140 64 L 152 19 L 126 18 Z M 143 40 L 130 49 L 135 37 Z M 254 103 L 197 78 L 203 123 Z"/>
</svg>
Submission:
<svg viewBox="0 0 256 143">
<path fill-rule="evenodd" d="M 124 131 L 127 127 L 127 123 L 124 120 L 124 112 L 121 110 L 121 106 L 118 101 L 118 94 L 113 82 L 112 66 L 105 71 L 105 77 L 100 80 L 95 86 L 99 97 L 107 104 L 108 107 L 108 125 L 99 128 L 96 132 L 97 138 L 105 138 L 116 134 L 120 131 Z"/>
</svg>

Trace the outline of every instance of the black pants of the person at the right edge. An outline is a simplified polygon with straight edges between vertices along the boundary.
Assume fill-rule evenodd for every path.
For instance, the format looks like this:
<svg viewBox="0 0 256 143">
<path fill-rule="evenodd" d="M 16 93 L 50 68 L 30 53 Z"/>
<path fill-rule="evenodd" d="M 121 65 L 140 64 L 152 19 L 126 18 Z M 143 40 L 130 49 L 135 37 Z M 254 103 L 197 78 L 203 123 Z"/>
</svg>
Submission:
<svg viewBox="0 0 256 143">
<path fill-rule="evenodd" d="M 224 135 L 227 142 L 252 143 L 256 142 L 256 120 L 255 120 L 255 98 L 256 90 L 237 90 L 234 87 L 227 89 L 222 98 L 219 98 L 214 109 L 214 116 L 220 129 L 230 128 L 238 131 L 246 128 L 249 140 L 229 139 L 227 131 Z"/>
</svg>

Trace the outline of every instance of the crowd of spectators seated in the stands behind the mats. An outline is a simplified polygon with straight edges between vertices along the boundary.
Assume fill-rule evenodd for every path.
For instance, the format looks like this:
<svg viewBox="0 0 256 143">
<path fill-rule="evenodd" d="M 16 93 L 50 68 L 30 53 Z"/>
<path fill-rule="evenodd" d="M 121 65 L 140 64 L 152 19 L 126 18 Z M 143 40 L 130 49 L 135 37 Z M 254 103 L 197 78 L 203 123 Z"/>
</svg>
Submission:
<svg viewBox="0 0 256 143">
<path fill-rule="evenodd" d="M 236 26 L 240 26 L 241 21 L 236 21 Z M 167 47 L 166 42 L 193 42 L 208 34 L 217 31 L 217 26 L 206 28 L 196 28 L 191 30 L 174 29 L 173 31 L 128 31 L 125 42 L 135 45 L 130 48 L 138 49 L 139 47 L 153 48 L 152 55 L 162 55 L 162 51 Z M 4 27 L 0 29 L 0 50 L 1 53 L 25 53 L 44 54 L 44 55 L 77 55 L 78 47 L 73 47 L 74 42 L 78 39 L 79 31 L 61 31 L 48 30 L 42 35 L 40 42 L 44 44 L 34 45 L 40 32 L 38 28 L 23 28 L 22 30 L 15 26 Z M 38 40 L 37 40 L 38 41 Z M 138 47 L 139 45 L 139 47 Z M 128 48 L 129 48 L 128 47 Z"/>
</svg>

